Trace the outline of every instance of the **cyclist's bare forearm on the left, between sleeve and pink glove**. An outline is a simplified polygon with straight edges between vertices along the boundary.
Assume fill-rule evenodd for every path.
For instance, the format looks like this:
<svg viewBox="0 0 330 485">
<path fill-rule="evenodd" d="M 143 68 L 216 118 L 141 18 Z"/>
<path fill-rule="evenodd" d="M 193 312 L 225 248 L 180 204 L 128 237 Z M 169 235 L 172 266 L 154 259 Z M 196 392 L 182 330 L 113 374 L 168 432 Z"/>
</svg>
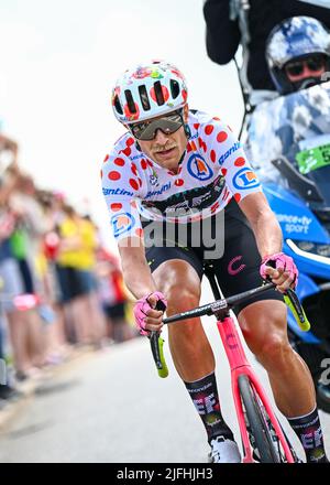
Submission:
<svg viewBox="0 0 330 485">
<path fill-rule="evenodd" d="M 131 293 L 139 300 L 157 291 L 144 251 L 140 251 L 139 248 L 119 248 L 119 250 L 123 279 Z"/>
</svg>

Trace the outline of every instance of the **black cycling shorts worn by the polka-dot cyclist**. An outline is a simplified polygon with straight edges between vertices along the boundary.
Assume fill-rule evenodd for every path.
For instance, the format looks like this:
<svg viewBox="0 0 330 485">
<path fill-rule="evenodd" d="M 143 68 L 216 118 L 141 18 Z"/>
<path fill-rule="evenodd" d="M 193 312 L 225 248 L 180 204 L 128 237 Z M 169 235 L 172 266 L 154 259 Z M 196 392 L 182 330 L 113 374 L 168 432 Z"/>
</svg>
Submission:
<svg viewBox="0 0 330 485">
<path fill-rule="evenodd" d="M 147 229 L 152 227 L 150 224 L 153 224 L 153 227 L 162 227 L 163 230 L 162 237 L 158 237 L 158 240 L 155 240 L 154 244 L 151 242 L 151 237 L 146 234 L 148 233 Z M 212 239 L 217 238 L 219 240 L 219 238 L 222 238 L 223 240 L 223 254 L 216 259 L 209 259 L 209 256 L 206 259 L 206 250 L 210 250 L 210 248 L 205 246 L 201 236 L 200 245 L 196 247 L 196 240 L 198 240 L 196 231 L 200 231 L 202 225 L 188 223 L 186 225 L 188 236 L 185 236 L 184 239 L 178 234 L 178 226 L 182 224 L 173 224 L 173 226 L 176 226 L 175 237 L 173 237 L 174 228 L 172 227 L 169 238 L 167 236 L 168 231 L 165 230 L 165 227 L 167 227 L 165 223 L 143 220 L 142 225 L 145 233 L 145 256 L 152 272 L 164 261 L 182 259 L 195 268 L 201 280 L 204 265 L 212 261 L 217 279 L 226 298 L 262 284 L 260 276 L 261 256 L 255 237 L 248 219 L 234 200 L 226 207 L 224 216 L 223 214 L 217 214 L 210 217 Z M 195 239 L 193 239 L 194 235 Z M 156 238 L 153 233 L 154 239 Z M 172 241 L 174 247 L 168 247 L 168 240 Z M 193 240 L 195 240 L 194 244 Z M 261 300 L 283 301 L 283 295 L 276 290 L 265 291 L 251 298 L 248 302 L 237 305 L 234 308 L 235 314 L 239 314 L 249 304 Z"/>
</svg>

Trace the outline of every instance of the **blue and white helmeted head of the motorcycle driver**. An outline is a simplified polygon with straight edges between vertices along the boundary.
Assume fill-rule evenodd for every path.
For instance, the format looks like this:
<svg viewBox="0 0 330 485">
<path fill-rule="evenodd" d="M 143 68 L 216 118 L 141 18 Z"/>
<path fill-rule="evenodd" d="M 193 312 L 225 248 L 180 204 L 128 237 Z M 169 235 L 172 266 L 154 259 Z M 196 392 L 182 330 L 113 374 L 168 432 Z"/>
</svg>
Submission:
<svg viewBox="0 0 330 485">
<path fill-rule="evenodd" d="M 271 77 L 280 95 L 330 79 L 330 31 L 310 17 L 284 20 L 266 43 Z"/>
</svg>

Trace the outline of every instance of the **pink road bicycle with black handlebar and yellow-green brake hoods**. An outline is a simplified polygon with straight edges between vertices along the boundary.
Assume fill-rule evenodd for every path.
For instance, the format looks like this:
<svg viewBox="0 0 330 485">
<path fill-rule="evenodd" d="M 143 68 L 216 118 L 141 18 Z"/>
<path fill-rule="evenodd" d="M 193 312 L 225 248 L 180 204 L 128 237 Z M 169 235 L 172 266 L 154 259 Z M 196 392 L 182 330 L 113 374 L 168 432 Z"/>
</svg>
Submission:
<svg viewBox="0 0 330 485">
<path fill-rule="evenodd" d="M 251 297 L 262 293 L 275 284 L 264 282 L 262 287 L 243 293 L 221 299 L 219 284 L 216 279 L 213 266 L 205 266 L 207 276 L 215 299 L 209 303 L 196 309 L 179 313 L 177 315 L 164 319 L 164 324 L 191 319 L 195 316 L 216 315 L 218 330 L 222 340 L 223 347 L 231 369 L 232 394 L 235 405 L 237 418 L 239 422 L 243 463 L 296 463 L 300 462 L 296 452 L 286 436 L 272 405 L 262 388 L 258 378 L 249 363 L 238 330 L 230 310 Z M 286 304 L 294 313 L 300 328 L 308 331 L 310 324 L 306 317 L 304 309 L 293 290 L 288 290 L 284 297 Z M 164 309 L 160 309 L 164 310 Z M 164 341 L 158 332 L 152 332 L 150 336 L 153 357 L 161 377 L 167 377 L 163 344 Z"/>
</svg>

